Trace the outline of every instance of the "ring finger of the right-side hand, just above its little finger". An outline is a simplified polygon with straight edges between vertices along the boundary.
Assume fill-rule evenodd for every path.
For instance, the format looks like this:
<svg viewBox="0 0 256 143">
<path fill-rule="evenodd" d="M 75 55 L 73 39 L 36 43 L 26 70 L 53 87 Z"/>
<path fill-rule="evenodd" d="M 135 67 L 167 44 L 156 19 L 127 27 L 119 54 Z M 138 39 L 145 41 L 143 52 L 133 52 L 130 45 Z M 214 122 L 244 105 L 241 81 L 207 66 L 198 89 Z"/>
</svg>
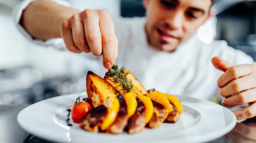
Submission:
<svg viewBox="0 0 256 143">
<path fill-rule="evenodd" d="M 237 105 L 243 105 L 245 103 L 256 101 L 256 88 L 245 90 L 228 98 L 225 98 L 222 102 L 225 107 L 233 107 Z"/>
</svg>

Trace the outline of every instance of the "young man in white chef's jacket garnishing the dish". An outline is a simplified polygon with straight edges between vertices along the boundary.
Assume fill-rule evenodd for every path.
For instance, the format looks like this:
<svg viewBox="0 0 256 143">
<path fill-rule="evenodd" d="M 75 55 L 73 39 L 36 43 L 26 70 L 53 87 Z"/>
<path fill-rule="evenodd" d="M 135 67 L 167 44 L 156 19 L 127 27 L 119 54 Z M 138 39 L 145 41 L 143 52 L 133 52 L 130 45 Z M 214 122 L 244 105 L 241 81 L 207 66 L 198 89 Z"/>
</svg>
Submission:
<svg viewBox="0 0 256 143">
<path fill-rule="evenodd" d="M 106 69 L 114 62 L 125 65 L 146 89 L 203 99 L 220 91 L 224 106 L 250 104 L 233 111 L 238 120 L 254 117 L 256 66 L 252 58 L 224 41 L 205 44 L 193 35 L 213 15 L 212 3 L 143 0 L 146 17 L 112 20 L 104 10 L 80 11 L 47 0 L 27 0 L 15 8 L 14 16 L 18 29 L 35 43 L 91 53 L 85 56 L 102 61 Z M 56 38 L 63 38 L 65 46 Z"/>
</svg>

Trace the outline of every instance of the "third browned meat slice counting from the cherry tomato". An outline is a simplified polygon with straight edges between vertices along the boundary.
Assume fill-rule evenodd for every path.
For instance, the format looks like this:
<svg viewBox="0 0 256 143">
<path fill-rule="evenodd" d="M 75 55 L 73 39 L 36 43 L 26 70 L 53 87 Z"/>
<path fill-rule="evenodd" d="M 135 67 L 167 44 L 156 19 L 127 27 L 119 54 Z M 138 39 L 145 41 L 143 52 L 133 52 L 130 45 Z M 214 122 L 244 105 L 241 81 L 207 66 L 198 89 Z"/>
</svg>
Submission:
<svg viewBox="0 0 256 143">
<path fill-rule="evenodd" d="M 138 98 L 136 100 L 138 103 L 136 111 L 128 120 L 127 130 L 129 134 L 140 132 L 145 127 L 145 105 Z"/>
</svg>

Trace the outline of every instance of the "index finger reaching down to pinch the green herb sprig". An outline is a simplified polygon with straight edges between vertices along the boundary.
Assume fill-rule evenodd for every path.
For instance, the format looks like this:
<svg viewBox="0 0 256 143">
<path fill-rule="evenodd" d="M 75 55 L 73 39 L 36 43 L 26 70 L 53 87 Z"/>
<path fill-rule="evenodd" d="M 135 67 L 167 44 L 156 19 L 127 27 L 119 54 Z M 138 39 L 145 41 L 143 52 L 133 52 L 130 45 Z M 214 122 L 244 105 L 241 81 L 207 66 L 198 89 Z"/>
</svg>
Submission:
<svg viewBox="0 0 256 143">
<path fill-rule="evenodd" d="M 101 13 L 99 26 L 102 34 L 103 65 L 110 69 L 115 61 L 116 35 L 111 16 L 104 10 Z"/>
</svg>

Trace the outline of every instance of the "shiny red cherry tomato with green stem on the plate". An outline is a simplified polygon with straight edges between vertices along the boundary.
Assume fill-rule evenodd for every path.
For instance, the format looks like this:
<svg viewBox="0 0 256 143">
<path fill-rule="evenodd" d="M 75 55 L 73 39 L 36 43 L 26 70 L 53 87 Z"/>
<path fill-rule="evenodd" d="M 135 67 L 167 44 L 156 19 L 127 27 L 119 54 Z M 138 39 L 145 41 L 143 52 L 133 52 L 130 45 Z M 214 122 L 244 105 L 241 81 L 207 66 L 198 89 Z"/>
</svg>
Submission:
<svg viewBox="0 0 256 143">
<path fill-rule="evenodd" d="M 76 99 L 76 103 L 71 110 L 71 116 L 75 123 L 80 123 L 83 116 L 85 116 L 90 110 L 91 105 L 85 101 L 80 102 L 80 97 Z"/>
</svg>

